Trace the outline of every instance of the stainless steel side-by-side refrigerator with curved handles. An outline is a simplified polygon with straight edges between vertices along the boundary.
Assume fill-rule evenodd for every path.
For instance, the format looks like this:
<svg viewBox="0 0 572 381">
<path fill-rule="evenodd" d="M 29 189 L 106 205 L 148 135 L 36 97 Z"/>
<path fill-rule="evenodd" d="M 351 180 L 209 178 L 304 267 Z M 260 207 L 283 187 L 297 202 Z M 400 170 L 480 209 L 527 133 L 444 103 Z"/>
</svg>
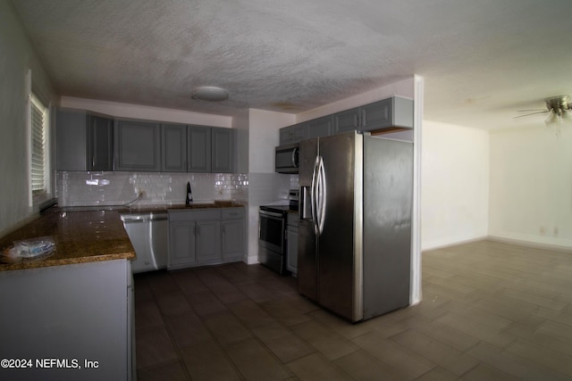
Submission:
<svg viewBox="0 0 572 381">
<path fill-rule="evenodd" d="M 299 186 L 299 293 L 353 322 L 407 306 L 413 144 L 302 141 Z"/>
</svg>

